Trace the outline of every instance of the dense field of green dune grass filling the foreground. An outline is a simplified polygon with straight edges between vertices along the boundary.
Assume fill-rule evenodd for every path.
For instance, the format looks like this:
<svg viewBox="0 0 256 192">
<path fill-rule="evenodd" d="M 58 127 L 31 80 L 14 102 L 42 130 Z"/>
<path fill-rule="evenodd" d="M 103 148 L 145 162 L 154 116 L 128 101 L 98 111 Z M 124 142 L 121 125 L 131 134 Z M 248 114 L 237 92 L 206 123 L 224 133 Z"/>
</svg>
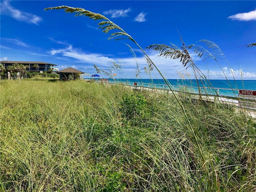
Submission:
<svg viewBox="0 0 256 192">
<path fill-rule="evenodd" d="M 256 122 L 232 107 L 79 80 L 0 98 L 0 191 L 256 190 Z"/>
</svg>

